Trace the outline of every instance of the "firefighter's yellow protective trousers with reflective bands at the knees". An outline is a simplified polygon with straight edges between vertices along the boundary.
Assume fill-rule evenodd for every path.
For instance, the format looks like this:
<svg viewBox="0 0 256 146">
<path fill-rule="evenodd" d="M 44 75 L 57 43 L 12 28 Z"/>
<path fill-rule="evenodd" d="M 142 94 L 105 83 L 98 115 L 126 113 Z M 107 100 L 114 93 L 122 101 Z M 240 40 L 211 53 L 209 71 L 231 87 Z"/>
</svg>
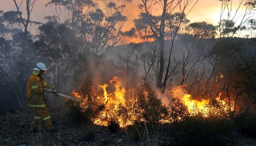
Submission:
<svg viewBox="0 0 256 146">
<path fill-rule="evenodd" d="M 35 116 L 31 125 L 33 131 L 39 131 L 41 120 L 44 121 L 46 130 L 51 130 L 53 128 L 50 112 L 47 107 L 35 108 Z"/>
</svg>

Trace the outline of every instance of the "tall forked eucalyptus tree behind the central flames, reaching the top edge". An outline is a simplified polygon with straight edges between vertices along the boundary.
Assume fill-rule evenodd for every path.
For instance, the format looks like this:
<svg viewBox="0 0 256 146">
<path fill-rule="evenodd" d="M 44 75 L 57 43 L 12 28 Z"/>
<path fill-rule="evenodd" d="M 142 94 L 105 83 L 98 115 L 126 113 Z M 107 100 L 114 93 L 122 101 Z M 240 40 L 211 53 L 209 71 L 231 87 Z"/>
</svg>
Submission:
<svg viewBox="0 0 256 146">
<path fill-rule="evenodd" d="M 183 24 L 187 23 L 186 15 L 193 8 L 197 0 L 141 0 L 142 4 L 139 5 L 139 8 L 142 12 L 146 14 L 147 24 L 149 25 L 152 33 L 159 41 L 160 44 L 160 64 L 158 72 L 158 81 L 157 87 L 164 88 L 166 87 L 166 81 L 170 77 L 170 66 L 171 66 L 171 54 L 175 36 L 182 27 Z M 189 7 L 191 6 L 191 7 Z M 152 21 L 152 12 L 154 8 L 160 9 L 160 16 L 157 25 L 155 21 Z M 176 12 L 176 10 L 178 12 Z M 187 10 L 187 14 L 185 14 Z M 153 22 L 153 23 L 152 23 Z M 169 35 L 166 35 L 166 31 L 169 31 Z M 165 40 L 171 39 L 171 47 L 168 55 L 168 63 L 165 64 Z M 164 74 L 164 68 L 166 68 L 166 73 Z M 164 78 L 163 78 L 164 76 Z M 164 79 L 164 80 L 163 80 Z M 163 81 L 163 82 L 162 82 Z"/>
</svg>

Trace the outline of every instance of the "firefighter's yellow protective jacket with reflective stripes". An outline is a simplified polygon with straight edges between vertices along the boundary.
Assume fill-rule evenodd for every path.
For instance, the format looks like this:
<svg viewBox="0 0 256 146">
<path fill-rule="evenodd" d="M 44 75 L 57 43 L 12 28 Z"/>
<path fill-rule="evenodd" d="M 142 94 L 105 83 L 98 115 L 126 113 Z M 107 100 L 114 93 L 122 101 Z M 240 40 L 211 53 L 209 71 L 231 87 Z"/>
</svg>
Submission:
<svg viewBox="0 0 256 146">
<path fill-rule="evenodd" d="M 44 78 L 40 79 L 38 76 L 31 75 L 27 83 L 27 98 L 32 94 L 32 96 L 27 101 L 28 107 L 38 108 L 46 107 L 45 105 L 45 94 L 44 89 L 53 89 L 47 84 Z"/>
</svg>

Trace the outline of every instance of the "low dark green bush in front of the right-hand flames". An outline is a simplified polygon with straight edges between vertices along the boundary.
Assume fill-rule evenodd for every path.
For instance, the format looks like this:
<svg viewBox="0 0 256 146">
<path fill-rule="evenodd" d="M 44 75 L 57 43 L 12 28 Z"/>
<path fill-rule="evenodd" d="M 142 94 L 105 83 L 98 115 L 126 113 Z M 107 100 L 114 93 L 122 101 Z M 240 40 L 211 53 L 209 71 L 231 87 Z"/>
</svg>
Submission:
<svg viewBox="0 0 256 146">
<path fill-rule="evenodd" d="M 170 124 L 169 131 L 176 145 L 232 145 L 235 133 L 232 120 L 196 116 Z"/>
</svg>

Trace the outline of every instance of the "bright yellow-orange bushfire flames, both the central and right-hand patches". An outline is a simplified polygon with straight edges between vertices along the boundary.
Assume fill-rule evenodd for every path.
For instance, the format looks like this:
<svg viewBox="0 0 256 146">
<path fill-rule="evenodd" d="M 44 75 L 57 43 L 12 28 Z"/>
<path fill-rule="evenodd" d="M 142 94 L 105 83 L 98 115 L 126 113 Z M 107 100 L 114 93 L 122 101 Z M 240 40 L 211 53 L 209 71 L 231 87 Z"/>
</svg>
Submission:
<svg viewBox="0 0 256 146">
<path fill-rule="evenodd" d="M 127 113 L 127 115 L 129 115 L 130 119 L 126 119 L 126 121 L 124 122 L 122 120 L 122 118 L 120 117 L 116 117 L 116 115 L 114 115 L 115 113 L 113 111 L 115 111 L 118 106 L 124 106 L 127 107 L 129 106 L 129 104 L 127 104 L 128 102 L 130 103 L 130 106 L 133 104 L 132 101 L 134 101 L 134 99 L 131 99 L 130 101 L 126 101 L 125 100 L 125 89 L 122 86 L 122 82 L 121 80 L 116 76 L 113 77 L 112 80 L 109 81 L 110 83 L 114 84 L 115 87 L 115 91 L 114 92 L 108 92 L 107 91 L 107 87 L 109 86 L 108 84 L 104 84 L 104 85 L 98 85 L 99 87 L 101 87 L 104 91 L 103 93 L 103 97 L 98 97 L 99 100 L 105 104 L 106 109 L 109 110 L 105 110 L 103 112 L 101 112 L 101 117 L 106 117 L 105 119 L 108 120 L 102 120 L 102 119 L 97 119 L 94 121 L 94 124 L 97 125 L 103 125 L 103 126 L 107 126 L 109 123 L 109 118 L 111 117 L 115 117 L 118 119 L 118 123 L 120 127 L 126 127 L 128 125 L 132 125 L 133 124 L 133 120 L 134 117 L 131 116 L 132 115 L 132 111 L 129 111 L 131 113 Z M 183 88 L 184 86 L 178 86 L 176 88 L 173 88 L 170 91 L 170 94 L 175 97 L 175 98 L 179 98 L 181 99 L 182 103 L 187 107 L 188 112 L 190 114 L 196 114 L 196 112 L 200 112 L 201 114 L 203 114 L 204 117 L 207 117 L 207 111 L 209 110 L 209 106 L 206 107 L 206 105 L 209 103 L 208 100 L 205 99 L 201 99 L 199 100 L 195 100 L 192 98 L 191 95 L 189 95 L 186 90 L 184 90 Z M 81 97 L 79 96 L 79 94 L 77 92 L 75 92 L 75 90 L 72 93 L 76 98 L 81 99 Z M 145 91 L 145 94 L 147 94 L 147 92 Z M 224 107 L 226 106 L 226 102 L 220 99 L 220 95 L 219 97 L 216 98 L 216 100 L 221 103 Z M 85 106 L 86 104 L 84 102 L 79 103 L 80 107 Z M 225 107 L 227 108 L 227 107 Z M 143 120 L 143 119 L 142 119 Z M 164 122 L 169 122 L 169 121 L 164 121 Z"/>
</svg>

